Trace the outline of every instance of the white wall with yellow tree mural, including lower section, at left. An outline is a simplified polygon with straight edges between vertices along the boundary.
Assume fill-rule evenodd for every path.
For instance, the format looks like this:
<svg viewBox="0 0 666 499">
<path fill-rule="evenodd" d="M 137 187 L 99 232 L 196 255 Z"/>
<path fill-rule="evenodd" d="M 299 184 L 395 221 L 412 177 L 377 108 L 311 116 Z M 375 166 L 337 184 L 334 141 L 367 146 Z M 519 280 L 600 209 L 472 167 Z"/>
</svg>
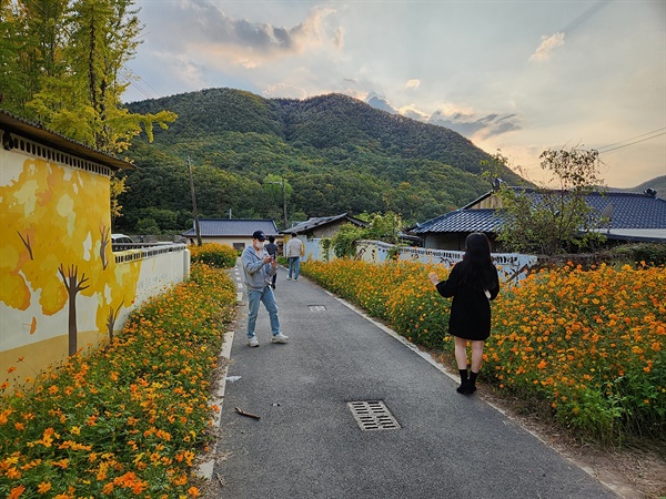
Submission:
<svg viewBox="0 0 666 499">
<path fill-rule="evenodd" d="M 112 253 L 109 169 L 33 145 L 0 149 L 0 386 L 10 390 L 109 340 L 189 271 L 184 245 Z"/>
</svg>

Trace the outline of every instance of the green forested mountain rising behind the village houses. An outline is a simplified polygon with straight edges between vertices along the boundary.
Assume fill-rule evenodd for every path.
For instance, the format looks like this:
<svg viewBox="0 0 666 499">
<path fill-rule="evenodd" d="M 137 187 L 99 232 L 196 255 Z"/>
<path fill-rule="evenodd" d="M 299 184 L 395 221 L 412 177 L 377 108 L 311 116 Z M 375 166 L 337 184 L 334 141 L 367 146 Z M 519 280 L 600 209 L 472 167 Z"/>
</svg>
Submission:
<svg viewBox="0 0 666 499">
<path fill-rule="evenodd" d="M 491 156 L 467 139 L 346 95 L 297 101 L 210 89 L 128 108 L 179 116 L 125 154 L 138 170 L 128 174 L 115 226 L 130 233 L 192 226 L 188 159 L 200 217 L 272 217 L 279 226 L 282 179 L 290 221 L 393 211 L 412 223 L 491 187 L 480 175 Z M 519 180 L 508 169 L 500 175 Z"/>
</svg>

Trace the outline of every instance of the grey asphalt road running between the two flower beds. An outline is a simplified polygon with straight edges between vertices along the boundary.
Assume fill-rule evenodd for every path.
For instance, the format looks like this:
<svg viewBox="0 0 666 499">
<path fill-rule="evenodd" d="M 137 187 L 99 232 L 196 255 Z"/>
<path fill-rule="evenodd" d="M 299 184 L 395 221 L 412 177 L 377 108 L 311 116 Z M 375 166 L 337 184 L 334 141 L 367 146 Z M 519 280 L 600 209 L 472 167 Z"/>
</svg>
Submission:
<svg viewBox="0 0 666 499">
<path fill-rule="evenodd" d="M 250 348 L 246 301 L 233 338 L 214 468 L 223 497 L 616 498 L 303 276 L 281 269 L 275 294 L 290 343 L 270 343 L 262 306 Z M 382 401 L 400 429 L 361 429 L 350 401 Z"/>
</svg>

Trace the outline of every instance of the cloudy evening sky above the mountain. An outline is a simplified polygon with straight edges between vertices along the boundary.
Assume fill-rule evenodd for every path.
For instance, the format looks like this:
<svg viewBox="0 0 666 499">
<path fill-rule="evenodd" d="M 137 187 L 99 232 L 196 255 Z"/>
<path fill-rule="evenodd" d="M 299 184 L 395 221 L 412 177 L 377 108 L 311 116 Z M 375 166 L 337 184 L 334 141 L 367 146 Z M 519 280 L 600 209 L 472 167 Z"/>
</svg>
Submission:
<svg viewBox="0 0 666 499">
<path fill-rule="evenodd" d="M 137 0 L 125 102 L 344 93 L 450 128 L 541 184 L 545 150 L 666 175 L 666 0 Z M 553 184 L 551 184 L 553 185 Z"/>
</svg>

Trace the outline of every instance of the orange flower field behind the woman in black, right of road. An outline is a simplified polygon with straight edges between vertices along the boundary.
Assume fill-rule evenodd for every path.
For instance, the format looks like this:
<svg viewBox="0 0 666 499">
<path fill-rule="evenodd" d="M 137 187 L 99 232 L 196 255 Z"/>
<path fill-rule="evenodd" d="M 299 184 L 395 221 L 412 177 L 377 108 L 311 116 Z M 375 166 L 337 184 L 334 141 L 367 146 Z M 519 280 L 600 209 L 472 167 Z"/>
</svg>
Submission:
<svg viewBox="0 0 666 499">
<path fill-rule="evenodd" d="M 307 262 L 303 273 L 453 358 L 450 299 L 427 279 L 434 265 Z M 547 404 L 578 436 L 605 444 L 666 435 L 666 267 L 565 266 L 528 275 L 493 302 L 482 378 Z M 451 354 L 451 355 L 450 355 Z"/>
</svg>

